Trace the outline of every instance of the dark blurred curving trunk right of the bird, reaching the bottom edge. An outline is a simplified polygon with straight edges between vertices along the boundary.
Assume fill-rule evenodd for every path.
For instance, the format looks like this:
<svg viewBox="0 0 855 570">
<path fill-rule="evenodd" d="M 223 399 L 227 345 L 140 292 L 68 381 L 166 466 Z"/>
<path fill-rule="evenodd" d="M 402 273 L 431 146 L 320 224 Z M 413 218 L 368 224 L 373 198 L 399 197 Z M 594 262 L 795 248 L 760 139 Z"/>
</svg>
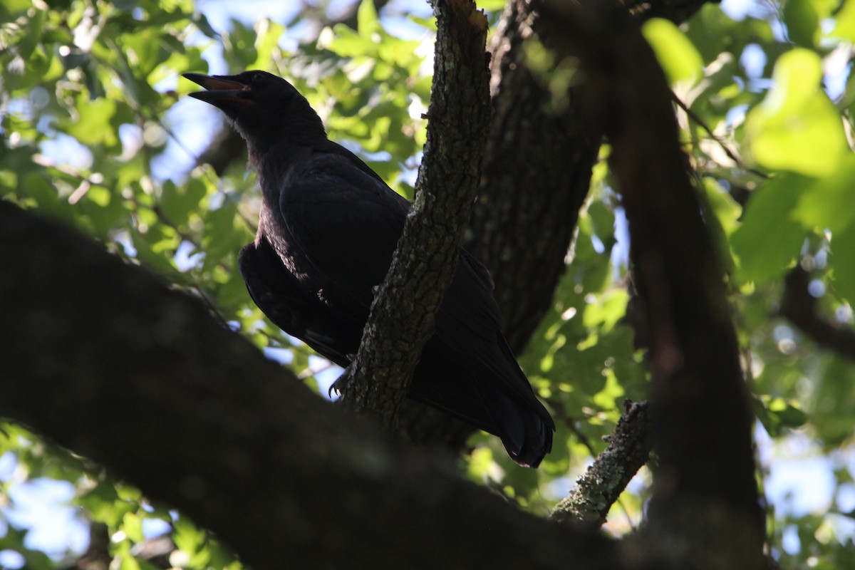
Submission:
<svg viewBox="0 0 855 570">
<path fill-rule="evenodd" d="M 752 414 L 723 273 L 688 176 L 671 92 L 625 11 L 544 5 L 561 56 L 581 59 L 612 145 L 650 340 L 658 455 L 651 567 L 763 567 Z"/>
</svg>

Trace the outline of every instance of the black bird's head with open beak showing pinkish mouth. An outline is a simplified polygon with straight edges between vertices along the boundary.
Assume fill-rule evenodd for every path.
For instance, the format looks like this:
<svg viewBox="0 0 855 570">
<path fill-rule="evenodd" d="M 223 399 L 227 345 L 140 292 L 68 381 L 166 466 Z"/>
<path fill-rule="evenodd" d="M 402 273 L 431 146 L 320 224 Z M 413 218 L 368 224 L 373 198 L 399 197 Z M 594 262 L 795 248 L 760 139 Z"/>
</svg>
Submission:
<svg viewBox="0 0 855 570">
<path fill-rule="evenodd" d="M 221 109 L 250 145 L 251 152 L 263 152 L 282 140 L 326 138 L 321 119 L 305 97 L 272 73 L 184 73 L 184 77 L 207 90 L 191 93 L 190 97 Z"/>
</svg>

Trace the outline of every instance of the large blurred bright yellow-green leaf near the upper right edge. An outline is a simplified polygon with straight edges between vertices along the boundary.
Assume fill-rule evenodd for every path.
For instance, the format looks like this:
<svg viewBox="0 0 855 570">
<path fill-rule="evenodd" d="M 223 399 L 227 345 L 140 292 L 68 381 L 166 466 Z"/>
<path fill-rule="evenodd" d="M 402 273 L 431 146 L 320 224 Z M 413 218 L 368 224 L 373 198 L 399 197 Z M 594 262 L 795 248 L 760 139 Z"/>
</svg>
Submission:
<svg viewBox="0 0 855 570">
<path fill-rule="evenodd" d="M 820 89 L 821 66 L 801 48 L 775 63 L 775 85 L 746 119 L 746 142 L 764 167 L 827 176 L 849 151 L 840 114 Z"/>
</svg>

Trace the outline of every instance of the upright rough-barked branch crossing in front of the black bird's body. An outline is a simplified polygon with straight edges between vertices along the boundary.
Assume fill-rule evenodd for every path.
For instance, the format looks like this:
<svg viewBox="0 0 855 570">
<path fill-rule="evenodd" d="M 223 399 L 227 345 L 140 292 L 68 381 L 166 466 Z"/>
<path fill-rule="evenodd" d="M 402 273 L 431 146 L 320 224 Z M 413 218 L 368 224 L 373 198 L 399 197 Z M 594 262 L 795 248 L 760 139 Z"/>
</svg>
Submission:
<svg viewBox="0 0 855 570">
<path fill-rule="evenodd" d="M 454 276 L 491 114 L 486 17 L 471 0 L 436 0 L 433 13 L 433 89 L 416 203 L 374 298 L 357 358 L 339 381 L 346 406 L 371 410 L 386 426 L 398 424 L 433 316 Z"/>
</svg>

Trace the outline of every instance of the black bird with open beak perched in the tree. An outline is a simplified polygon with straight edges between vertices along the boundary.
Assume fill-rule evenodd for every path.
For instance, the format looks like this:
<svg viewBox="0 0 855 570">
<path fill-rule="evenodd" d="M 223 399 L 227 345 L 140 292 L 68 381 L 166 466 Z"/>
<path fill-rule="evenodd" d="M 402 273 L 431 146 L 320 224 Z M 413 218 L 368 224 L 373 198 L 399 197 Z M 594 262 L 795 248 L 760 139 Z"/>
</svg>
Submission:
<svg viewBox="0 0 855 570">
<path fill-rule="evenodd" d="M 184 77 L 208 90 L 191 97 L 226 114 L 257 169 L 258 233 L 239 256 L 252 299 L 283 331 L 346 367 L 410 203 L 330 141 L 285 79 L 262 71 Z M 501 331 L 490 274 L 461 250 L 409 396 L 498 435 L 514 461 L 537 467 L 555 423 Z"/>
</svg>

